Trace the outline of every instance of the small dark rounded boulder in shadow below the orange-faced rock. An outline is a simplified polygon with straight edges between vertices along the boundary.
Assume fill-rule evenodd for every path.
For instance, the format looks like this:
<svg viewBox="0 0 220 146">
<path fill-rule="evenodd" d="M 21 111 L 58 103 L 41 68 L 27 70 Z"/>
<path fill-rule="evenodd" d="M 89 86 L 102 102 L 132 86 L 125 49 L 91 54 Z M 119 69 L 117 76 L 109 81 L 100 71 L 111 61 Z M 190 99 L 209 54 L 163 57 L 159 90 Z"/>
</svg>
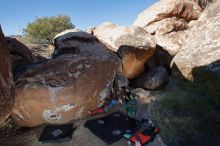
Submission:
<svg viewBox="0 0 220 146">
<path fill-rule="evenodd" d="M 167 70 L 164 67 L 157 67 L 141 75 L 134 80 L 134 86 L 150 90 L 157 90 L 163 87 L 169 80 Z"/>
</svg>

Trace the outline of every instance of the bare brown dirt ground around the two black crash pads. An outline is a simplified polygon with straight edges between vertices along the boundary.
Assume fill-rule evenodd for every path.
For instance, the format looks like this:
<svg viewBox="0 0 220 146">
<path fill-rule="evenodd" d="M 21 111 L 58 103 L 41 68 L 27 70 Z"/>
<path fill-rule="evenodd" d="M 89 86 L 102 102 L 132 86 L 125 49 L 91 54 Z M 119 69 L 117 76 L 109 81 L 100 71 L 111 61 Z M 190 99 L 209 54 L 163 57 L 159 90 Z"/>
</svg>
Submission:
<svg viewBox="0 0 220 146">
<path fill-rule="evenodd" d="M 114 112 L 119 110 L 118 108 L 112 110 Z M 143 113 L 144 112 L 144 113 Z M 109 114 L 109 113 L 108 113 Z M 140 115 L 146 115 L 146 108 L 139 110 Z M 84 123 L 93 118 L 104 116 L 100 114 L 97 116 L 88 117 L 82 120 L 73 121 L 72 123 L 77 129 L 74 131 L 72 139 L 62 143 L 41 144 L 38 139 L 45 127 L 45 125 L 38 126 L 30 129 L 23 129 L 17 134 L 4 137 L 0 136 L 0 146 L 107 146 L 105 142 L 96 137 L 87 128 L 84 127 Z M 127 146 L 127 140 L 122 138 L 121 140 L 113 143 L 111 146 Z M 161 137 L 158 135 L 153 142 L 146 144 L 146 146 L 164 146 Z"/>
</svg>

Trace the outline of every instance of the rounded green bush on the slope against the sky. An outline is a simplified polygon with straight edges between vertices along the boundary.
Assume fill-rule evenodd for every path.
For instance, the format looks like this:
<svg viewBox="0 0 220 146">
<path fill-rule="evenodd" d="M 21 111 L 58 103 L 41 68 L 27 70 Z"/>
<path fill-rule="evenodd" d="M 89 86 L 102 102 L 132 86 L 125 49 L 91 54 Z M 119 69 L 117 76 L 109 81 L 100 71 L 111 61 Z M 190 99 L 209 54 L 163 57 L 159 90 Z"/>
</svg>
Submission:
<svg viewBox="0 0 220 146">
<path fill-rule="evenodd" d="M 74 25 L 71 23 L 70 17 L 59 15 L 36 18 L 23 29 L 23 32 L 32 43 L 52 44 L 56 34 L 72 28 Z"/>
</svg>

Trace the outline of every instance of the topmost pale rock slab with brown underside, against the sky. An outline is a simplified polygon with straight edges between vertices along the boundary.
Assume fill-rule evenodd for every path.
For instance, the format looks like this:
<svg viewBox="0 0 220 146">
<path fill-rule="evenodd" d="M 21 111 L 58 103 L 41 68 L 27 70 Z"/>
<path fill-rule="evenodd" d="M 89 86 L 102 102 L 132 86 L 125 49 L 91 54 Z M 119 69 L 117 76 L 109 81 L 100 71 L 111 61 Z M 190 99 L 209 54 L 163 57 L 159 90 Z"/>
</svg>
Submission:
<svg viewBox="0 0 220 146">
<path fill-rule="evenodd" d="M 201 8 L 191 0 L 161 0 L 140 13 L 134 26 L 145 27 L 164 18 L 176 17 L 186 21 L 199 17 Z"/>
</svg>

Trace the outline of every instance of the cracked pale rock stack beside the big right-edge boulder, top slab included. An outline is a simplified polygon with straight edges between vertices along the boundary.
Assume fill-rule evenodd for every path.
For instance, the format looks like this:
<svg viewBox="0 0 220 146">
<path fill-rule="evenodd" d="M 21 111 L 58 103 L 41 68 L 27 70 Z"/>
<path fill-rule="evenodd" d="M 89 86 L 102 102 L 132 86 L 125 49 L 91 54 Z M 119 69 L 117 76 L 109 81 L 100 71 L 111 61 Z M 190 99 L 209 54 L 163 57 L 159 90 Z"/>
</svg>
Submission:
<svg viewBox="0 0 220 146">
<path fill-rule="evenodd" d="M 201 10 L 193 0 L 160 0 L 140 13 L 134 26 L 154 35 L 157 45 L 175 56 L 187 37 L 188 23 L 197 20 Z"/>
</svg>

